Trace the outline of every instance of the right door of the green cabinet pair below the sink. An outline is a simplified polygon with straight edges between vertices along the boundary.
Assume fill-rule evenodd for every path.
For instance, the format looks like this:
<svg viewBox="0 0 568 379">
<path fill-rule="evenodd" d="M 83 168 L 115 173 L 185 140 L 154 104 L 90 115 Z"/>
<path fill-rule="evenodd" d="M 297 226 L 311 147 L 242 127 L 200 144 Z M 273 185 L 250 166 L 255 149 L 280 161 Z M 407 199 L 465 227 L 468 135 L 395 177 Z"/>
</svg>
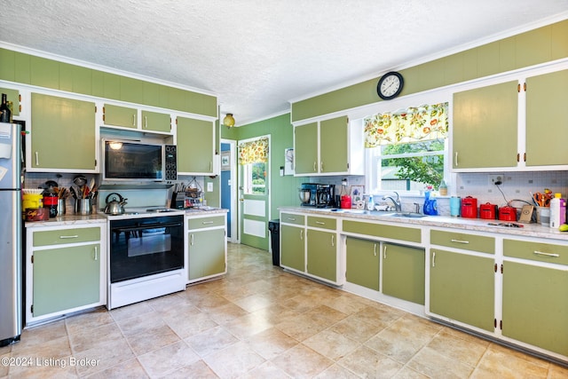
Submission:
<svg viewBox="0 0 568 379">
<path fill-rule="evenodd" d="M 424 304 L 424 249 L 383 244 L 383 294 Z"/>
</svg>

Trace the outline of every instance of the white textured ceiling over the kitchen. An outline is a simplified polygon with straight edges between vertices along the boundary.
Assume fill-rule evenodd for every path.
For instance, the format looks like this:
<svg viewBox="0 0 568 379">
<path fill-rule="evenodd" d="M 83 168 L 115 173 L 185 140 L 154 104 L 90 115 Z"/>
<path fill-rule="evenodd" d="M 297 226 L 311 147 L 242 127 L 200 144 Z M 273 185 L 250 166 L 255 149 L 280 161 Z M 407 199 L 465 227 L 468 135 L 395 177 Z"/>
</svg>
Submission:
<svg viewBox="0 0 568 379">
<path fill-rule="evenodd" d="M 568 0 L 3 0 L 0 42 L 213 92 L 242 125 L 567 12 Z"/>
</svg>

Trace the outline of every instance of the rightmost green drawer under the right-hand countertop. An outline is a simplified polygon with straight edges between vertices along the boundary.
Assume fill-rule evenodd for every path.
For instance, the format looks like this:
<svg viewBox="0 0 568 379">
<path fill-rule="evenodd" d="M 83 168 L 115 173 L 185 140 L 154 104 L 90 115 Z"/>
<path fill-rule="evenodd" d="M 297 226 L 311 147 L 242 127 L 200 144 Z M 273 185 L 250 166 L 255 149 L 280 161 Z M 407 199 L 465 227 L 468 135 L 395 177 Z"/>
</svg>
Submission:
<svg viewBox="0 0 568 379">
<path fill-rule="evenodd" d="M 531 259 L 558 265 L 568 265 L 568 246 L 551 243 L 503 240 L 505 257 Z"/>
</svg>

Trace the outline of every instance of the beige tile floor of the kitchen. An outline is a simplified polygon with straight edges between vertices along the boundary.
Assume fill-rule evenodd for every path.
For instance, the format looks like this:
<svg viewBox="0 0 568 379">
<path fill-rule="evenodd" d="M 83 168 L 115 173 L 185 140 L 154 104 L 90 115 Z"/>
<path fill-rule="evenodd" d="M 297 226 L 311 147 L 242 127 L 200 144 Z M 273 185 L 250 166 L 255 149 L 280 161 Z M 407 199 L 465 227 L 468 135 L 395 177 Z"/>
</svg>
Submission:
<svg viewBox="0 0 568 379">
<path fill-rule="evenodd" d="M 266 251 L 234 244 L 224 279 L 21 339 L 0 348 L 0 378 L 568 377 L 568 368 L 283 272 Z"/>
</svg>

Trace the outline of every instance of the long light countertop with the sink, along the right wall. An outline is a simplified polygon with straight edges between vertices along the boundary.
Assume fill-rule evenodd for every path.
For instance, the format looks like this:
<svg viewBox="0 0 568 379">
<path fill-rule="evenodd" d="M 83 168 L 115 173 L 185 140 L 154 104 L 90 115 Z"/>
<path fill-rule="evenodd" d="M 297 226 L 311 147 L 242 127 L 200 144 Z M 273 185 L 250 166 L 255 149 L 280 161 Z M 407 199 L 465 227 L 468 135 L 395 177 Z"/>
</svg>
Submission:
<svg viewBox="0 0 568 379">
<path fill-rule="evenodd" d="M 559 230 L 550 228 L 540 224 L 521 224 L 522 227 L 505 227 L 501 225 L 491 224 L 509 224 L 507 221 L 487 220 L 481 218 L 463 218 L 449 216 L 426 216 L 420 218 L 412 217 L 394 217 L 392 212 L 382 211 L 362 211 L 357 209 L 344 209 L 340 211 L 332 211 L 331 209 L 317 209 L 308 207 L 280 207 L 280 210 L 288 212 L 302 212 L 318 216 L 343 217 L 350 219 L 373 220 L 380 222 L 388 222 L 400 225 L 422 225 L 448 227 L 454 229 L 464 229 L 468 231 L 499 233 L 507 235 L 520 235 L 524 237 L 536 237 L 543 239 L 554 239 L 568 241 L 568 232 L 560 232 Z M 351 212 L 350 212 L 351 211 Z"/>
</svg>

